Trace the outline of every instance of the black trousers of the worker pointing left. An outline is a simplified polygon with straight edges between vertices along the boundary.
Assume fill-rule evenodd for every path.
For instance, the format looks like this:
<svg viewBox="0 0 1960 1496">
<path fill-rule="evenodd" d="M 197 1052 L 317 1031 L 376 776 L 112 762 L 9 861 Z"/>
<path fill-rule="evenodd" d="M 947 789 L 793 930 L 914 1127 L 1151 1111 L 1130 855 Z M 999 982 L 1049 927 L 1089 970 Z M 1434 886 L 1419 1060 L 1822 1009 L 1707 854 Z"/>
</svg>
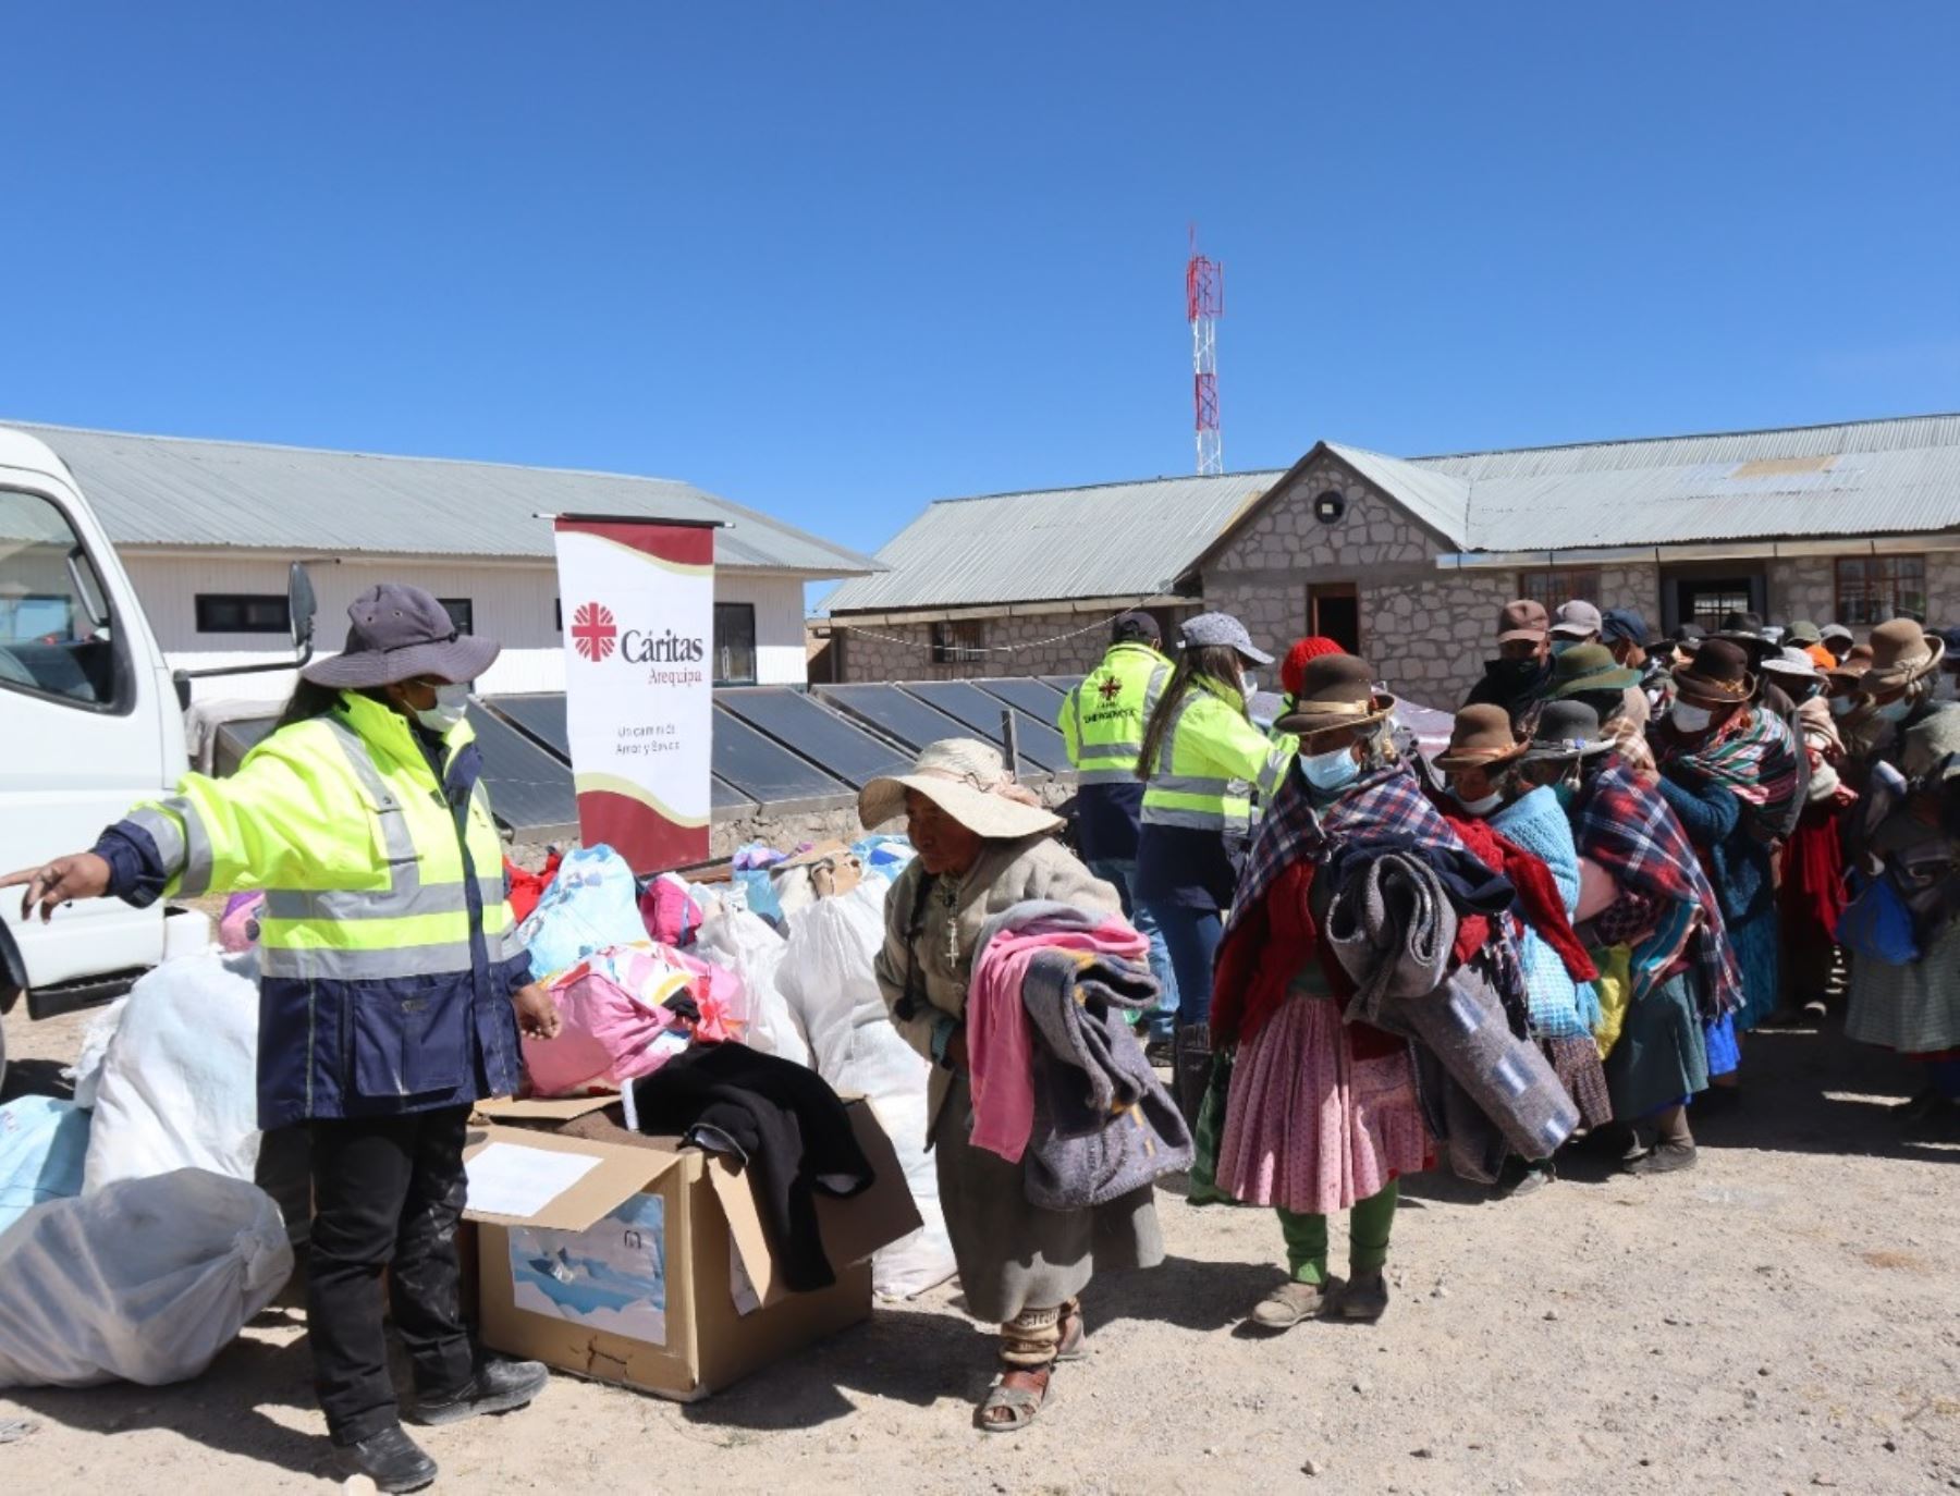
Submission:
<svg viewBox="0 0 1960 1496">
<path fill-rule="evenodd" d="M 314 1386 L 335 1443 L 400 1420 L 388 1376 L 380 1274 L 416 1392 L 443 1398 L 474 1374 L 463 1329 L 457 1223 L 470 1110 L 314 1122 L 314 1243 L 306 1327 Z"/>
</svg>

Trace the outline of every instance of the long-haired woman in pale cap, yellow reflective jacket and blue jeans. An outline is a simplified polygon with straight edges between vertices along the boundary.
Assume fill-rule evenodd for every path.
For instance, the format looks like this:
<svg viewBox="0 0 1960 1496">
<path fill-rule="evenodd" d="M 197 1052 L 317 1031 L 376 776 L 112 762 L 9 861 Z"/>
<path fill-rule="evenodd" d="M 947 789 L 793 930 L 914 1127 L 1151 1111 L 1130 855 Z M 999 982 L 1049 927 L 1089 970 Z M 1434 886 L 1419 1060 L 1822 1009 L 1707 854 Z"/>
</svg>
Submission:
<svg viewBox="0 0 1960 1496">
<path fill-rule="evenodd" d="M 1250 837 L 1252 784 L 1270 739 L 1252 725 L 1250 671 L 1272 665 L 1245 623 L 1200 614 L 1178 629 L 1178 665 L 1151 712 L 1137 759 L 1143 831 L 1137 902 L 1164 931 L 1178 976 L 1176 1088 L 1186 1118 L 1211 1078 L 1211 959 Z"/>
</svg>

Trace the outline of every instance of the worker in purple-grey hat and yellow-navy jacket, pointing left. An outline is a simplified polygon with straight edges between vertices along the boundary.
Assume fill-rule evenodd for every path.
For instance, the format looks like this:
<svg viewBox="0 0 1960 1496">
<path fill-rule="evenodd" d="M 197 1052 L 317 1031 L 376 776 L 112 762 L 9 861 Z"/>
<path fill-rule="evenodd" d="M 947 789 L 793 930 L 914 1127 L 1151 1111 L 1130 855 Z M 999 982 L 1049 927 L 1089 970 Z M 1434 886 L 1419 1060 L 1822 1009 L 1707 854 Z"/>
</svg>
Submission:
<svg viewBox="0 0 1960 1496">
<path fill-rule="evenodd" d="M 380 1278 L 416 1376 L 416 1420 L 529 1404 L 535 1361 L 478 1361 L 457 1223 L 470 1104 L 515 1090 L 519 1025 L 553 1037 L 504 896 L 504 851 L 465 720 L 498 645 L 414 586 L 347 610 L 347 649 L 302 674 L 237 774 L 186 774 L 92 851 L 0 878 L 24 918 L 114 894 L 143 906 L 265 890 L 259 1125 L 306 1125 L 314 1227 L 306 1323 L 327 1431 L 380 1490 L 435 1480 L 402 1431 Z"/>
</svg>

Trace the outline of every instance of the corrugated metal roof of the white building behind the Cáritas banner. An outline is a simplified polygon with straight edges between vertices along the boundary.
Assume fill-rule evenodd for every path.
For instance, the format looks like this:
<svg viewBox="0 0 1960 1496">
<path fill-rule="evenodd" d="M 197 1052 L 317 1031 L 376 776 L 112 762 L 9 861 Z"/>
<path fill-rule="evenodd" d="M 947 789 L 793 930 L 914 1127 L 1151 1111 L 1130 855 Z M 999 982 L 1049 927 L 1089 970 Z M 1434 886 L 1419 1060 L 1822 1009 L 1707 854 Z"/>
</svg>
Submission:
<svg viewBox="0 0 1960 1496">
<path fill-rule="evenodd" d="M 878 567 L 670 478 L 8 424 L 53 447 L 118 545 L 549 557 L 551 525 L 533 516 L 623 514 L 721 520 L 721 567 Z"/>
</svg>

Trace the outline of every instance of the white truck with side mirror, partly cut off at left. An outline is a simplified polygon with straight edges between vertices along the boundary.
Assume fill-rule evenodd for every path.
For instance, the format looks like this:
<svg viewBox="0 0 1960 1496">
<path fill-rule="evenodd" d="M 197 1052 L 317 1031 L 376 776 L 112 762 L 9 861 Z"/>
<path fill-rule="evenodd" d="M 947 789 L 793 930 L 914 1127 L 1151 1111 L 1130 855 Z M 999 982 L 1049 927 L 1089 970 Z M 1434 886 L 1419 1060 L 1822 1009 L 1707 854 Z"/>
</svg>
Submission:
<svg viewBox="0 0 1960 1496">
<path fill-rule="evenodd" d="M 314 590 L 292 569 L 296 659 L 312 655 Z M 0 427 L 0 873 L 86 849 L 131 804 L 167 794 L 188 769 L 192 674 L 165 663 L 100 522 L 45 443 Z M 24 922 L 0 896 L 0 1080 L 4 1016 L 31 1018 L 118 996 L 163 959 L 167 922 L 198 920 L 112 898 Z"/>
</svg>

